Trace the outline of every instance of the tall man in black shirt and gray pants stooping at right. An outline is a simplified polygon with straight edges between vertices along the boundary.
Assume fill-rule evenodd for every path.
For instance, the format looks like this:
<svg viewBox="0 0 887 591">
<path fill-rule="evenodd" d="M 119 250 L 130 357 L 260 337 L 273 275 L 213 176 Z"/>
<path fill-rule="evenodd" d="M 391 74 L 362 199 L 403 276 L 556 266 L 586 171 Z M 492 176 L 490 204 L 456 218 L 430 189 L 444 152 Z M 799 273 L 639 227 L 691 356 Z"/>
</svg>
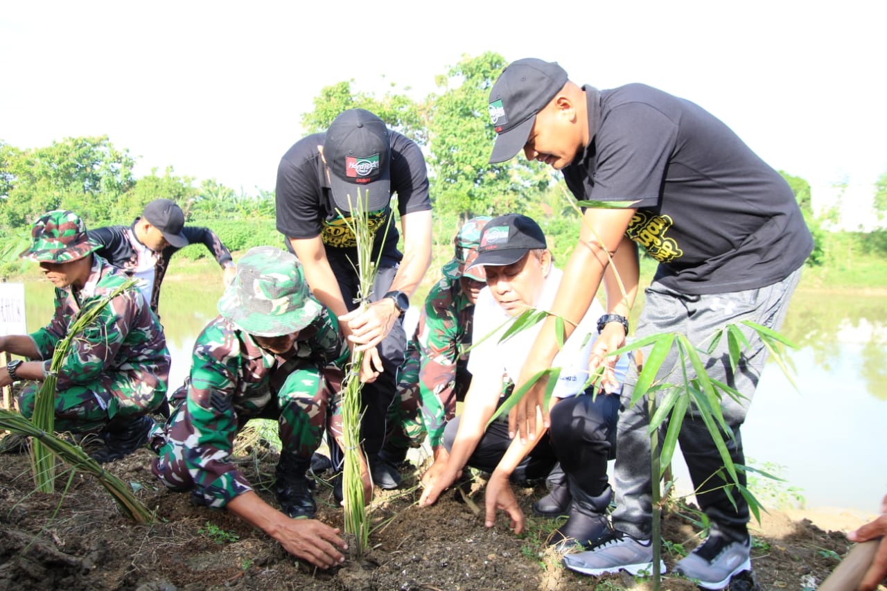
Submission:
<svg viewBox="0 0 887 591">
<path fill-rule="evenodd" d="M 579 87 L 563 68 L 541 59 L 506 67 L 492 88 L 490 115 L 498 133 L 491 162 L 523 150 L 528 160 L 562 170 L 578 200 L 613 201 L 610 209 L 585 210 L 578 247 L 552 308 L 568 320 L 563 324 L 569 335 L 569 321 L 582 318 L 604 278 L 608 315 L 599 323 L 596 364 L 612 364 L 607 353 L 628 333 L 625 317 L 638 284 L 635 242 L 659 262 L 646 291 L 639 338 L 680 332 L 690 343 L 704 343 L 727 323 L 751 320 L 781 327 L 812 238 L 789 185 L 723 122 L 643 84 L 605 91 Z M 624 294 L 605 277 L 614 267 Z M 554 320 L 547 319 L 518 386 L 553 359 L 555 331 Z M 728 451 L 742 465 L 739 429 L 767 356 L 757 333 L 744 332 L 749 343 L 737 370 L 727 360 L 727 339 L 703 359 L 710 378 L 740 392 L 741 402 L 723 397 L 720 410 L 734 435 L 726 437 Z M 658 377 L 684 369 L 695 376 L 693 367 L 682 367 L 673 354 Z M 619 417 L 616 532 L 589 552 L 565 556 L 564 563 L 576 571 L 652 571 L 649 419 L 644 405 L 630 404 L 636 380 L 636 373 L 629 375 Z M 511 428 L 522 439 L 538 430 L 538 410 L 548 422 L 544 391 L 545 382 L 538 382 L 514 407 Z M 714 475 L 723 461 L 692 405 L 679 441 L 695 487 L 705 484 L 707 492 L 696 499 L 712 526 L 676 570 L 702 587 L 719 589 L 750 568 L 749 508 L 741 495 L 718 485 L 720 477 Z M 739 475 L 744 484 L 744 474 Z"/>
</svg>

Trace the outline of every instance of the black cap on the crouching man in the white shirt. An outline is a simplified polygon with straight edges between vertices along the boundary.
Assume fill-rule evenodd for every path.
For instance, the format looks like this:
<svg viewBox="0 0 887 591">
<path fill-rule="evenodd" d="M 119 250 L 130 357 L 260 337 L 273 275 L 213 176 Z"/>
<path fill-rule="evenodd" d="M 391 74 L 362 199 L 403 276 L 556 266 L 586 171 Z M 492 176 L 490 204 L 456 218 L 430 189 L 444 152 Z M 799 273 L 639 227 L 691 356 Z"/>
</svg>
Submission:
<svg viewBox="0 0 887 591">
<path fill-rule="evenodd" d="M 494 267 L 514 264 L 535 248 L 548 248 L 548 245 L 542 228 L 531 217 L 521 214 L 493 217 L 483 226 L 477 247 L 479 254 L 468 269 L 478 264 Z"/>
</svg>

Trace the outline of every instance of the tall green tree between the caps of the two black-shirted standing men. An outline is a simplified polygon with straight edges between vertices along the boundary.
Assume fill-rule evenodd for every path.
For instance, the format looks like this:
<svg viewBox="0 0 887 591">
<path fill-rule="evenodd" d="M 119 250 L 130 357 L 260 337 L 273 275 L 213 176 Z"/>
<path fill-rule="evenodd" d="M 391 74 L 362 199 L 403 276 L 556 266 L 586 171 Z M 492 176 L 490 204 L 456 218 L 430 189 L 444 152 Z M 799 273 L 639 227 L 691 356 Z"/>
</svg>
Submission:
<svg viewBox="0 0 887 591">
<path fill-rule="evenodd" d="M 514 158 L 490 164 L 496 133 L 490 125 L 490 90 L 506 66 L 498 53 L 463 56 L 437 77 L 440 94 L 428 99 L 429 162 L 436 209 L 460 217 L 521 211 L 527 193 L 553 183 L 539 162 Z"/>
</svg>

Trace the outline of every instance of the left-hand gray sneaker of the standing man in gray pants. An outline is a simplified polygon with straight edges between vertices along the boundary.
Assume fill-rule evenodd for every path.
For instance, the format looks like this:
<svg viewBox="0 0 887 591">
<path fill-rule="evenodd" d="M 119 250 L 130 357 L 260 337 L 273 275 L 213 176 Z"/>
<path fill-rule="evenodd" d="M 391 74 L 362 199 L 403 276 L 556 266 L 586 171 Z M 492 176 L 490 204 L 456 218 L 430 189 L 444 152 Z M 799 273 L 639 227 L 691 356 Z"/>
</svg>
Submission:
<svg viewBox="0 0 887 591">
<path fill-rule="evenodd" d="M 568 554 L 563 557 L 564 566 L 587 575 L 629 571 L 632 575 L 653 573 L 653 546 L 650 540 L 635 540 L 623 532 L 605 535 L 587 552 Z M 661 572 L 665 563 L 659 561 Z"/>
</svg>

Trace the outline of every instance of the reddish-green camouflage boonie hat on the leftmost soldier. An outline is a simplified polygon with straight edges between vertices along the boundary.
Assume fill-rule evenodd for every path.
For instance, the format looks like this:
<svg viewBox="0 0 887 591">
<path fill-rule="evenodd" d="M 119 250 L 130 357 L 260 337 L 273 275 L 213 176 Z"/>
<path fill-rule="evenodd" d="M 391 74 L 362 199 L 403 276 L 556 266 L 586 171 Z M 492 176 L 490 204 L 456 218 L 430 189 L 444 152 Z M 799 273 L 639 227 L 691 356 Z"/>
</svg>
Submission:
<svg viewBox="0 0 887 591">
<path fill-rule="evenodd" d="M 101 244 L 90 240 L 80 216 L 66 209 L 55 209 L 38 218 L 31 227 L 31 246 L 19 256 L 36 263 L 70 263 Z"/>
</svg>

